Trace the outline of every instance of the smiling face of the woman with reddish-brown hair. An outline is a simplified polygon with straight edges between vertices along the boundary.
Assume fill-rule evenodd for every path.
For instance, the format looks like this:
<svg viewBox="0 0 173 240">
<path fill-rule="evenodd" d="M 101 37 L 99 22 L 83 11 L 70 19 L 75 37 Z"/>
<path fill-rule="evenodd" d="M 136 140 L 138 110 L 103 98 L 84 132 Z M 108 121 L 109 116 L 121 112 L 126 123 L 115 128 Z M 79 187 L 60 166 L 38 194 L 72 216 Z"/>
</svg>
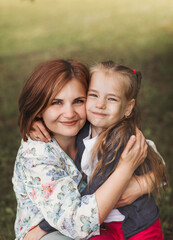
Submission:
<svg viewBox="0 0 173 240">
<path fill-rule="evenodd" d="M 58 141 L 74 137 L 86 121 L 86 89 L 77 79 L 72 79 L 53 99 L 42 114 L 44 123 Z"/>
</svg>

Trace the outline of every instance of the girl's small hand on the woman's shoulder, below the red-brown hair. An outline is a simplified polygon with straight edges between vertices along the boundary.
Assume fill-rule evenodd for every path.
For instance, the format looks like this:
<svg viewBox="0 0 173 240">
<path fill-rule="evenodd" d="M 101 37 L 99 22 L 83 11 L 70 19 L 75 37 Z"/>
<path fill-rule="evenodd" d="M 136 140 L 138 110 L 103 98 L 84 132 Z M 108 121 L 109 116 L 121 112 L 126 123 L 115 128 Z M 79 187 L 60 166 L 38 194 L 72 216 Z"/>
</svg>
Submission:
<svg viewBox="0 0 173 240">
<path fill-rule="evenodd" d="M 29 132 L 29 137 L 33 140 L 49 142 L 51 137 L 43 125 L 42 121 L 35 121 L 32 125 L 32 130 Z"/>
</svg>

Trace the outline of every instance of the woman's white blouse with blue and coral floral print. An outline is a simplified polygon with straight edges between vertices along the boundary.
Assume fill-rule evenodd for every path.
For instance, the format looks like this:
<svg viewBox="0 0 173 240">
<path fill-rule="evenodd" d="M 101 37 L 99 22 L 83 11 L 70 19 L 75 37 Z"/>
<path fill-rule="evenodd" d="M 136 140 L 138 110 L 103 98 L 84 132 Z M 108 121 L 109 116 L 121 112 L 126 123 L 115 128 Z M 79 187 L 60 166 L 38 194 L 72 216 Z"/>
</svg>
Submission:
<svg viewBox="0 0 173 240">
<path fill-rule="evenodd" d="M 95 195 L 80 196 L 82 175 L 55 139 L 22 140 L 13 175 L 17 198 L 16 240 L 46 219 L 62 234 L 87 239 L 99 234 Z"/>
</svg>

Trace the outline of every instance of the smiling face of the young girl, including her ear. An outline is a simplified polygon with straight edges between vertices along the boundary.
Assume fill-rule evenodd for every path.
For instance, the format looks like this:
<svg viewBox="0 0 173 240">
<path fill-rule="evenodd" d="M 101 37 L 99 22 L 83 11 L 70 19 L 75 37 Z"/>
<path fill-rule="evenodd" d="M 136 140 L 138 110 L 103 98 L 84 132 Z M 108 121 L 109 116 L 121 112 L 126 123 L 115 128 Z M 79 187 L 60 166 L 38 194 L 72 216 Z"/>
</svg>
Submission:
<svg viewBox="0 0 173 240">
<path fill-rule="evenodd" d="M 134 103 L 125 97 L 125 82 L 120 75 L 95 72 L 87 96 L 87 118 L 97 134 L 128 116 Z"/>
</svg>

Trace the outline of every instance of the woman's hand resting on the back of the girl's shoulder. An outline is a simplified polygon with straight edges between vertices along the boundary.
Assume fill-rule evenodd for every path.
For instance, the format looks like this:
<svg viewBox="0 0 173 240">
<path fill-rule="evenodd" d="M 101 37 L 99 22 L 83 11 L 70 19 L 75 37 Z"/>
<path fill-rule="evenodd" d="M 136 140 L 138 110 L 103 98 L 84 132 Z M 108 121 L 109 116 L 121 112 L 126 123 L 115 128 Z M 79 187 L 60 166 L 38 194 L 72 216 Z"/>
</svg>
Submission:
<svg viewBox="0 0 173 240">
<path fill-rule="evenodd" d="M 147 156 L 147 148 L 145 137 L 139 129 L 136 129 L 136 136 L 131 136 L 121 154 L 120 164 L 128 164 L 135 171 L 144 162 Z"/>
</svg>

